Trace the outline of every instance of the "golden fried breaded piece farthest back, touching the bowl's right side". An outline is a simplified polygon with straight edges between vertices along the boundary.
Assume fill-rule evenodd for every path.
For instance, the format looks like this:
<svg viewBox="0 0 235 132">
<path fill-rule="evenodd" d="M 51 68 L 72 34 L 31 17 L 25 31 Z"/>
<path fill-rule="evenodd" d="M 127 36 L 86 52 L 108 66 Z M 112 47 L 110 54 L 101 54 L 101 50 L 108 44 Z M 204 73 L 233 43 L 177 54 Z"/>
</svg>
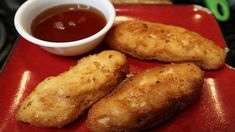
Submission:
<svg viewBox="0 0 235 132">
<path fill-rule="evenodd" d="M 163 62 L 193 62 L 203 69 L 224 65 L 225 52 L 198 33 L 141 20 L 118 24 L 107 35 L 111 48 L 139 59 Z"/>
</svg>

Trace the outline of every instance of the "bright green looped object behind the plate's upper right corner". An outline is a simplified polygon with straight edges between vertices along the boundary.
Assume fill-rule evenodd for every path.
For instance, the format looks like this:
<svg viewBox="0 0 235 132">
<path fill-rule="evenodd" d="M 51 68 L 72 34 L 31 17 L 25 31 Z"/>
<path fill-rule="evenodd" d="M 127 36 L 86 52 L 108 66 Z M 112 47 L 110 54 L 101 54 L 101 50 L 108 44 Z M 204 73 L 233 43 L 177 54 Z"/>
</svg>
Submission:
<svg viewBox="0 0 235 132">
<path fill-rule="evenodd" d="M 205 0 L 205 3 L 217 20 L 226 21 L 229 19 L 230 11 L 227 0 Z M 221 10 L 219 10 L 220 7 Z"/>
</svg>

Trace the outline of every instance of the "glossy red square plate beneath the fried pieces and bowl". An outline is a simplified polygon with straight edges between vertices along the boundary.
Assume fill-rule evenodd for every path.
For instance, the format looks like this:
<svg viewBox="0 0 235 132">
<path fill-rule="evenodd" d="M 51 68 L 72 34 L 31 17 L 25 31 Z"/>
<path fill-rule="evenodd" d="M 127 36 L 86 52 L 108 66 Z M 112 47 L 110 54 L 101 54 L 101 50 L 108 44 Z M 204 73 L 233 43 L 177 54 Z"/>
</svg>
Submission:
<svg viewBox="0 0 235 132">
<path fill-rule="evenodd" d="M 116 5 L 117 20 L 134 17 L 181 26 L 198 32 L 221 47 L 225 42 L 212 14 L 199 6 Z M 93 52 L 108 49 L 105 43 Z M 88 131 L 86 114 L 63 128 L 38 128 L 15 120 L 20 101 L 47 76 L 57 75 L 75 65 L 78 57 L 50 54 L 20 38 L 0 74 L 0 131 Z M 128 57 L 132 72 L 159 66 L 157 62 Z M 235 131 L 235 70 L 228 65 L 205 72 L 201 98 L 152 131 Z"/>
</svg>

